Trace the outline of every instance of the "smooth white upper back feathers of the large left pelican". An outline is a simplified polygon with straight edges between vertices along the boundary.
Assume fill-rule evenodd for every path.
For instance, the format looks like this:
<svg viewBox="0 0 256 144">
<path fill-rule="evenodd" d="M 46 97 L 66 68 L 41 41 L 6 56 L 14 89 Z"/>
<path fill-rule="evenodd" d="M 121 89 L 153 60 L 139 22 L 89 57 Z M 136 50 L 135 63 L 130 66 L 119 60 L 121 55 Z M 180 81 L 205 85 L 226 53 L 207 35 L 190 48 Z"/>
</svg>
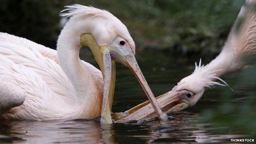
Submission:
<svg viewBox="0 0 256 144">
<path fill-rule="evenodd" d="M 56 50 L 6 33 L 0 33 L 0 47 L 0 55 L 14 64 L 23 65 L 36 72 L 55 94 L 73 102 L 72 95 L 75 91 L 64 71 L 56 63 Z"/>
</svg>

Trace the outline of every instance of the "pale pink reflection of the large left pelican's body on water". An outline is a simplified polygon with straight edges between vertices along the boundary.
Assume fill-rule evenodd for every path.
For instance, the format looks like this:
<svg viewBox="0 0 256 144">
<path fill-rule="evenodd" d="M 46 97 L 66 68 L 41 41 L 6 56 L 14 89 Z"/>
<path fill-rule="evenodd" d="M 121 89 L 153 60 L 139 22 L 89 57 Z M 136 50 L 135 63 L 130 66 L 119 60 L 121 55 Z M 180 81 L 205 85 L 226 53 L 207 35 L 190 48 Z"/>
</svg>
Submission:
<svg viewBox="0 0 256 144">
<path fill-rule="evenodd" d="M 21 139 L 8 139 L 24 144 L 113 143 L 111 126 L 98 121 L 2 121 L 1 134 Z M 25 140 L 25 141 L 24 141 Z"/>
</svg>

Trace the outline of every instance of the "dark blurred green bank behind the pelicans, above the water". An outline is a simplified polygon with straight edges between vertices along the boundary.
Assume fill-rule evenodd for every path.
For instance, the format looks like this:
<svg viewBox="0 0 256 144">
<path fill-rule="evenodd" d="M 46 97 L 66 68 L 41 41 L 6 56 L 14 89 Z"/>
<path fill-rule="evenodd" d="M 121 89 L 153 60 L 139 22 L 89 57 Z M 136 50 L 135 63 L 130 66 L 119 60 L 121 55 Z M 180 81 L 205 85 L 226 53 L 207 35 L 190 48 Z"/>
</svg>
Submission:
<svg viewBox="0 0 256 144">
<path fill-rule="evenodd" d="M 74 3 L 110 11 L 138 48 L 212 54 L 219 52 L 244 0 L 2 0 L 0 31 L 55 48 L 59 12 Z"/>
</svg>

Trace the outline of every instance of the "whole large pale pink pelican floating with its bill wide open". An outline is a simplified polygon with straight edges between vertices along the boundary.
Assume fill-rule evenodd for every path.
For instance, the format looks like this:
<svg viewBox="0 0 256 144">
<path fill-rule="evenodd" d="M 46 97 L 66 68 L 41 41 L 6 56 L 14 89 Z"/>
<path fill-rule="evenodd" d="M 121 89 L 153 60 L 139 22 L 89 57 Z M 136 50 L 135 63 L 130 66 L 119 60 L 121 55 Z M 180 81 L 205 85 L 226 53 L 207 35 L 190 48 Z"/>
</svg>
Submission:
<svg viewBox="0 0 256 144">
<path fill-rule="evenodd" d="M 136 62 L 135 43 L 126 26 L 94 7 L 71 5 L 65 10 L 69 12 L 61 15 L 71 18 L 59 35 L 57 51 L 0 33 L 2 117 L 51 120 L 101 115 L 102 123 L 112 123 L 116 61 L 133 71 L 159 118 L 165 119 Z M 101 71 L 79 58 L 81 46 L 92 50 Z"/>
</svg>

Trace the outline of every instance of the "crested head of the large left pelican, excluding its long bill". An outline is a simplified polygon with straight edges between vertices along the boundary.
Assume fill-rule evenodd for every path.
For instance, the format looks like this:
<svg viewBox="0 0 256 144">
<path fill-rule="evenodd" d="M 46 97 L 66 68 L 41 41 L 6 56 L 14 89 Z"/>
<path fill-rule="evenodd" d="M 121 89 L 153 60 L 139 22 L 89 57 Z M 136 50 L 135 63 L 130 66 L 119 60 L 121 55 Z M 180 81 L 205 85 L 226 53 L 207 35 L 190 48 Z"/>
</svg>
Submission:
<svg viewBox="0 0 256 144">
<path fill-rule="evenodd" d="M 71 18 L 62 33 L 69 33 L 76 43 L 79 40 L 79 44 L 91 48 L 100 66 L 103 65 L 99 56 L 102 48 L 107 47 L 111 58 L 122 64 L 122 57 L 135 55 L 135 43 L 127 27 L 110 12 L 78 4 L 66 7 L 63 11 L 69 12 L 62 13 L 61 16 Z"/>
</svg>

